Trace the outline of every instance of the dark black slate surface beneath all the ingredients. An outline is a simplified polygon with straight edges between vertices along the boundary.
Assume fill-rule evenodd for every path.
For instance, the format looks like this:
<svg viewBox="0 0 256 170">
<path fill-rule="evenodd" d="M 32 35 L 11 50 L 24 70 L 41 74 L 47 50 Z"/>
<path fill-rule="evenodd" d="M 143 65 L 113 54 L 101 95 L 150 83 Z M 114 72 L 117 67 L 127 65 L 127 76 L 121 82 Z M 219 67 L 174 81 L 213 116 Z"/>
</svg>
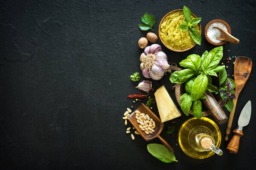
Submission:
<svg viewBox="0 0 256 170">
<path fill-rule="evenodd" d="M 239 113 L 250 99 L 252 116 L 244 128 L 237 155 L 227 152 L 227 124 L 219 125 L 223 156 L 191 159 L 177 144 L 177 132 L 188 118 L 176 119 L 175 137 L 162 133 L 174 148 L 178 162 L 165 164 L 147 151 L 148 143 L 126 134 L 122 114 L 141 91 L 129 76 L 140 71 L 137 46 L 140 17 L 148 12 L 158 35 L 162 17 L 186 5 L 207 23 L 223 19 L 229 23 L 239 45 L 224 44 L 224 57 L 247 56 L 253 61 L 249 80 L 239 96 L 232 130 Z M 2 0 L 0 2 L 0 169 L 254 169 L 256 165 L 256 1 L 230 0 Z M 169 62 L 180 62 L 189 54 L 203 54 L 216 46 L 204 35 L 202 45 L 177 53 L 162 46 Z M 233 74 L 232 58 L 227 70 Z M 170 74 L 152 81 L 153 88 L 166 88 Z M 145 79 L 141 76 L 140 80 Z M 175 100 L 174 92 L 170 92 Z M 146 100 L 142 101 L 143 103 Z M 177 104 L 176 100 L 175 103 Z M 153 105 L 156 113 L 156 105 Z M 229 112 L 224 110 L 227 115 Z M 209 118 L 212 118 L 209 116 Z M 165 123 L 167 125 L 168 122 Z M 133 131 L 132 131 L 133 132 Z"/>
</svg>

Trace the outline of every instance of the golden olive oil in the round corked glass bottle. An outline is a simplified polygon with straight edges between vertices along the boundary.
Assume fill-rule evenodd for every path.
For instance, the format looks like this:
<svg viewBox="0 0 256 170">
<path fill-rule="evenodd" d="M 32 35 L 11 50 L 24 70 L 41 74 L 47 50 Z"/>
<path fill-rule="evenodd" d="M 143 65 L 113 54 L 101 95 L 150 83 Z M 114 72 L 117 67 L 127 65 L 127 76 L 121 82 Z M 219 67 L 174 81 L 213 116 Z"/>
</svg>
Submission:
<svg viewBox="0 0 256 170">
<path fill-rule="evenodd" d="M 199 136 L 197 136 L 199 134 Z M 221 132 L 218 126 L 211 119 L 202 117 L 201 119 L 191 118 L 181 125 L 178 133 L 178 141 L 181 149 L 186 155 L 194 159 L 205 159 L 212 156 L 214 152 L 205 149 L 198 144 L 200 135 L 212 140 L 212 144 L 219 147 L 221 144 Z M 218 148 L 217 148 L 218 149 Z"/>
</svg>

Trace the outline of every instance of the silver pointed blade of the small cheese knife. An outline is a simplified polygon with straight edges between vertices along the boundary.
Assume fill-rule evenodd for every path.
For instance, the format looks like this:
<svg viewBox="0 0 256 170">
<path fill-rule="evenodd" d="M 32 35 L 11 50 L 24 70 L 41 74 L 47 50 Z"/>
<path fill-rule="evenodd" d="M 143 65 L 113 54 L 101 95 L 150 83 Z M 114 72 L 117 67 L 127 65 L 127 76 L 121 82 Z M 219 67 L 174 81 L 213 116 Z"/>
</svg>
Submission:
<svg viewBox="0 0 256 170">
<path fill-rule="evenodd" d="M 252 105 L 250 100 L 246 103 L 238 119 L 238 125 L 241 127 L 247 126 L 250 122 L 250 115 L 252 111 Z"/>
</svg>

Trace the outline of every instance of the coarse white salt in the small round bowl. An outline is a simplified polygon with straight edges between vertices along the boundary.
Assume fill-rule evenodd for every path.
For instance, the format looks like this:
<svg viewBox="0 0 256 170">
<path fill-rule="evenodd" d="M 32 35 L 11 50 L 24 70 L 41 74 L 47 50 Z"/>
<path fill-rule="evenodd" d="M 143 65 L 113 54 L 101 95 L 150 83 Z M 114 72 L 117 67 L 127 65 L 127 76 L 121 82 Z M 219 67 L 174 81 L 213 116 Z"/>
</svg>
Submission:
<svg viewBox="0 0 256 170">
<path fill-rule="evenodd" d="M 220 22 L 212 23 L 209 28 L 207 29 L 207 37 L 212 41 L 212 42 L 222 42 L 222 40 L 217 40 L 217 38 L 221 37 L 221 31 L 217 28 L 213 28 L 215 26 L 221 27 L 224 30 L 227 31 L 227 27 Z"/>
</svg>

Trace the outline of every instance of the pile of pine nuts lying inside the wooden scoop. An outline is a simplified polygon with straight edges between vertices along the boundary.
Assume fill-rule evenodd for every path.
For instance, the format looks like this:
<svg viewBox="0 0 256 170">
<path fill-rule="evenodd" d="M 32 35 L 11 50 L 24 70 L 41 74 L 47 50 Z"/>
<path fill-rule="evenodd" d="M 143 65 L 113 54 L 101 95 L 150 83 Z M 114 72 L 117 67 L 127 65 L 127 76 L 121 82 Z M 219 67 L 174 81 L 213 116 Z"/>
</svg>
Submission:
<svg viewBox="0 0 256 170">
<path fill-rule="evenodd" d="M 156 127 L 156 123 L 153 119 L 151 119 L 148 114 L 145 115 L 144 113 L 140 113 L 140 111 L 135 111 L 135 113 L 135 118 L 137 119 L 138 124 L 140 124 L 140 129 L 147 135 L 154 133 L 153 129 Z"/>
</svg>

